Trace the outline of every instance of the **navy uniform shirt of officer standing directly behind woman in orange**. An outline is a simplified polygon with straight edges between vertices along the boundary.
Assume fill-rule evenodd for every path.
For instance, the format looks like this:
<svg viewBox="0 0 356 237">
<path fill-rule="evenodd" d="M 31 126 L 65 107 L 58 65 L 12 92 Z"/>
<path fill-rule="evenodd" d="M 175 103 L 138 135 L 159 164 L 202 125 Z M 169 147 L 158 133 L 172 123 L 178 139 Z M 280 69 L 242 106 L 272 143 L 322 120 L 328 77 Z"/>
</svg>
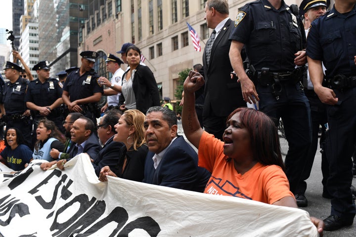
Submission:
<svg viewBox="0 0 356 237">
<path fill-rule="evenodd" d="M 250 63 L 257 71 L 294 70 L 294 54 L 305 48 L 305 31 L 297 16 L 282 0 L 276 10 L 267 0 L 247 3 L 238 12 L 229 40 L 245 44 Z"/>
</svg>

